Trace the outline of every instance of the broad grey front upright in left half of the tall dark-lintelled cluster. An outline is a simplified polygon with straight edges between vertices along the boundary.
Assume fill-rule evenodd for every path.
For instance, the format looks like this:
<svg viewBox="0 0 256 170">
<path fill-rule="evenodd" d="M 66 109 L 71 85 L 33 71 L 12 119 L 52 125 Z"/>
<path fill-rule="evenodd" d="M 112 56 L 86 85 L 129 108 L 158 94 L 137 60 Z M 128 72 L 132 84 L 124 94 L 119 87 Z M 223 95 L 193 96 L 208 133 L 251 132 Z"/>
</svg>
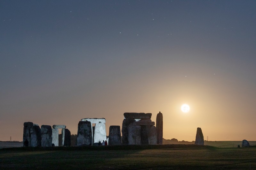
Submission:
<svg viewBox="0 0 256 170">
<path fill-rule="evenodd" d="M 128 126 L 128 144 L 140 144 L 141 136 L 140 136 L 141 126 L 136 126 L 135 122 L 129 124 Z"/>
</svg>

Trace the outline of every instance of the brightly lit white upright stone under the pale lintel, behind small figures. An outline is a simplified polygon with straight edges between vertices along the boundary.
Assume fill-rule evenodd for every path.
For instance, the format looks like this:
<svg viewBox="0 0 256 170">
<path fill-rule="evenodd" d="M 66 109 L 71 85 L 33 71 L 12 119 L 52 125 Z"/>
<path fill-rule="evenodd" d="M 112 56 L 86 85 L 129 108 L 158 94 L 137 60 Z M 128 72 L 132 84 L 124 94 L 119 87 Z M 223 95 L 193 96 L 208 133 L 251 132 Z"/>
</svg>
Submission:
<svg viewBox="0 0 256 170">
<path fill-rule="evenodd" d="M 93 143 L 107 140 L 105 123 L 95 124 L 93 139 Z"/>
</svg>

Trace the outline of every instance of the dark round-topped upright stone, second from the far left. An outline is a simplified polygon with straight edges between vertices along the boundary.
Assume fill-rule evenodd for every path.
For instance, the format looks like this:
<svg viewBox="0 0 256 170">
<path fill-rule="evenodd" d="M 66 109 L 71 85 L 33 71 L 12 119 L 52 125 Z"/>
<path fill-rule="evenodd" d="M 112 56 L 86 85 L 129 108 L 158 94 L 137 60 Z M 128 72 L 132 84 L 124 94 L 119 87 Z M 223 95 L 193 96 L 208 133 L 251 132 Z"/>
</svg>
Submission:
<svg viewBox="0 0 256 170">
<path fill-rule="evenodd" d="M 30 128 L 30 143 L 32 147 L 41 146 L 41 129 L 37 124 Z"/>
</svg>

